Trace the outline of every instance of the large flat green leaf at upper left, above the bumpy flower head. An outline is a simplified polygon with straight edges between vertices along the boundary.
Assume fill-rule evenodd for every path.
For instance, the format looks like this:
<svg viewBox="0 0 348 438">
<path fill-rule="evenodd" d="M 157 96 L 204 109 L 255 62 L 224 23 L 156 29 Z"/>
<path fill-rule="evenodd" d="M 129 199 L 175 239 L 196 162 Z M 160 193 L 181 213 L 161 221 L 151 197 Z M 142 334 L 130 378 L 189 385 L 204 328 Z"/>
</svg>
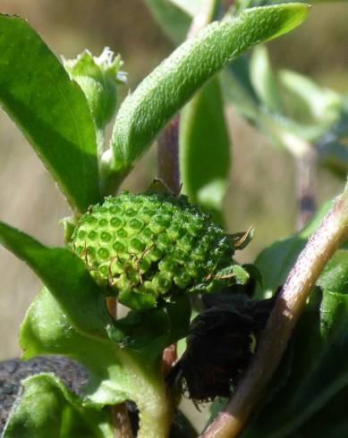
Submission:
<svg viewBox="0 0 348 438">
<path fill-rule="evenodd" d="M 100 199 L 89 105 L 55 55 L 20 17 L 0 15 L 0 102 L 73 209 Z"/>
</svg>

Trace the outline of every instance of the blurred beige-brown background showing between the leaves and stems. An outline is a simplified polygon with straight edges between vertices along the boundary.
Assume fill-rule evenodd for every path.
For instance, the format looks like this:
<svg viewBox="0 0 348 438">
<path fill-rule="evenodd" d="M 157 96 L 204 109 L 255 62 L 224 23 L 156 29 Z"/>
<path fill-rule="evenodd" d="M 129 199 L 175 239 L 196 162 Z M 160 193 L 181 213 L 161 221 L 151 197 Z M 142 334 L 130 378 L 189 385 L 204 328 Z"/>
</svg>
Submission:
<svg viewBox="0 0 348 438">
<path fill-rule="evenodd" d="M 26 17 L 57 55 L 71 58 L 85 47 L 99 55 L 110 46 L 123 56 L 123 70 L 134 88 L 173 45 L 157 27 L 142 0 L 2 0 L 1 13 Z M 275 68 L 308 74 L 318 84 L 348 93 L 348 9 L 346 4 L 319 4 L 292 33 L 268 44 Z M 122 97 L 120 97 L 121 101 Z M 252 261 L 273 240 L 295 231 L 296 200 L 293 159 L 268 147 L 267 139 L 226 109 L 233 143 L 233 172 L 225 198 L 229 232 L 256 227 L 256 237 L 242 254 Z M 5 114 L 0 114 L 0 215 L 47 244 L 63 242 L 58 221 L 68 215 L 62 195 Z M 144 190 L 156 175 L 156 148 L 142 158 L 123 184 Z M 324 169 L 317 173 L 318 204 L 343 186 Z M 38 280 L 20 261 L 0 248 L 0 359 L 20 354 L 17 333 Z"/>
</svg>

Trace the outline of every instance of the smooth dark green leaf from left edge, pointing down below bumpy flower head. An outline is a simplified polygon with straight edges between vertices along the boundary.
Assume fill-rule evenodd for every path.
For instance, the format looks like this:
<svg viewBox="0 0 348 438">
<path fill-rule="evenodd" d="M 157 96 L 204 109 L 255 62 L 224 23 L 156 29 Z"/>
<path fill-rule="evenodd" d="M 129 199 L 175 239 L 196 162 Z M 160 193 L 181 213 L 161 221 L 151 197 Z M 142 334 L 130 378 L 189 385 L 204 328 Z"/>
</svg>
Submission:
<svg viewBox="0 0 348 438">
<path fill-rule="evenodd" d="M 47 248 L 38 240 L 0 222 L 0 243 L 25 261 L 61 303 L 82 333 L 106 337 L 111 317 L 102 291 L 83 261 L 67 248 Z"/>
</svg>

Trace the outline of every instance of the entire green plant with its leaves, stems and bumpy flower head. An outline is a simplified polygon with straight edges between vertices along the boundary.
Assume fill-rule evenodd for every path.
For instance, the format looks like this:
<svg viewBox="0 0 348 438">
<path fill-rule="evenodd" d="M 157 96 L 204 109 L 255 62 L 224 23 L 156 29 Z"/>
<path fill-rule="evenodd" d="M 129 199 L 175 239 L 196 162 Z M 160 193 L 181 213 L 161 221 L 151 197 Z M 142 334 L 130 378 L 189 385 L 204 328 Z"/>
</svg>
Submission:
<svg viewBox="0 0 348 438">
<path fill-rule="evenodd" d="M 299 25 L 306 4 L 239 2 L 222 17 L 217 1 L 147 3 L 175 41 L 186 38 L 191 25 L 189 38 L 124 99 L 108 147 L 106 124 L 125 81 L 121 58 L 108 49 L 99 57 L 86 51 L 62 65 L 26 21 L 0 15 L 0 100 L 72 207 L 63 221 L 64 248 L 48 248 L 0 223 L 0 242 L 44 284 L 21 325 L 23 358 L 64 354 L 89 371 L 81 397 L 54 375 L 27 379 L 3 436 L 124 436 L 111 414 L 127 423 L 127 400 L 139 410 L 137 436 L 195 436 L 177 409 L 186 387 L 197 402 L 228 397 L 236 387 L 204 436 L 236 436 L 242 429 L 250 438 L 312 434 L 316 415 L 333 415 L 346 391 L 347 189 L 318 229 L 314 220 L 267 248 L 255 265 L 233 259 L 252 230 L 228 235 L 209 215 L 223 223 L 229 172 L 223 94 L 296 159 L 305 161 L 315 150 L 341 174 L 347 163 L 344 97 L 283 73 L 287 88 L 300 84 L 295 108 L 304 100 L 313 119 L 296 121 L 290 110 L 285 114 L 265 48 L 251 59 L 242 55 Z M 173 16 L 181 26 L 173 26 Z M 215 18 L 223 20 L 209 24 Z M 181 109 L 178 133 L 175 120 L 166 124 Z M 162 130 L 161 181 L 141 194 L 116 196 Z M 179 194 L 179 165 L 188 198 Z M 283 284 L 277 299 L 264 299 Z M 122 318 L 117 300 L 130 307 Z M 189 348 L 168 373 L 173 361 L 164 361 L 166 352 L 185 338 Z M 303 373 L 305 359 L 309 373 Z M 247 424 L 267 384 L 259 416 Z M 270 406 L 281 419 L 267 416 Z M 213 411 L 217 407 L 221 400 Z M 338 412 L 335 434 L 347 428 Z"/>
</svg>

